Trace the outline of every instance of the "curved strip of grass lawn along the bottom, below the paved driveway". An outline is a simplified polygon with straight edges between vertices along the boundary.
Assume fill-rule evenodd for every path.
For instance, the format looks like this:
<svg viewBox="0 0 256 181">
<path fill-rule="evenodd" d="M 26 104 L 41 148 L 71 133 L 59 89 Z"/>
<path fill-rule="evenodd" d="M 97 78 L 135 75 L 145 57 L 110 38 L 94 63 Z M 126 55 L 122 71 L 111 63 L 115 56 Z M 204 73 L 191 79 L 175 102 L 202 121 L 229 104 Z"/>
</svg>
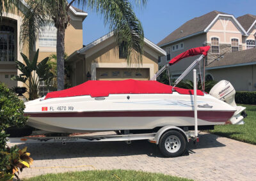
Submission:
<svg viewBox="0 0 256 181">
<path fill-rule="evenodd" d="M 147 173 L 143 171 L 133 170 L 94 170 L 94 171 L 75 171 L 57 174 L 40 175 L 38 177 L 25 179 L 26 181 L 39 180 L 173 180 L 173 181 L 187 181 L 187 178 L 172 177 L 170 175 L 163 175 L 161 173 Z M 24 181 L 25 181 L 24 180 Z"/>
</svg>

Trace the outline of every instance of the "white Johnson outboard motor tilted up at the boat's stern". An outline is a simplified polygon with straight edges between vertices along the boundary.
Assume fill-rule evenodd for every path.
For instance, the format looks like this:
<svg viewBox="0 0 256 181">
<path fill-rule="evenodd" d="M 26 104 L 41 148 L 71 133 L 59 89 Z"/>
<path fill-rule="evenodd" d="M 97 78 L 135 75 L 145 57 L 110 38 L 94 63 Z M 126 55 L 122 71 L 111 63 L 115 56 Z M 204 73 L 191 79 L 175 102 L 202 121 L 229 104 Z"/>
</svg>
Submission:
<svg viewBox="0 0 256 181">
<path fill-rule="evenodd" d="M 214 98 L 220 99 L 221 101 L 228 103 L 228 105 L 236 108 L 236 112 L 234 113 L 232 118 L 230 118 L 230 122 L 232 122 L 232 124 L 244 124 L 243 119 L 247 116 L 244 112 L 246 108 L 236 105 L 236 90 L 230 82 L 228 82 L 227 80 L 221 80 L 212 87 L 209 94 Z"/>
</svg>

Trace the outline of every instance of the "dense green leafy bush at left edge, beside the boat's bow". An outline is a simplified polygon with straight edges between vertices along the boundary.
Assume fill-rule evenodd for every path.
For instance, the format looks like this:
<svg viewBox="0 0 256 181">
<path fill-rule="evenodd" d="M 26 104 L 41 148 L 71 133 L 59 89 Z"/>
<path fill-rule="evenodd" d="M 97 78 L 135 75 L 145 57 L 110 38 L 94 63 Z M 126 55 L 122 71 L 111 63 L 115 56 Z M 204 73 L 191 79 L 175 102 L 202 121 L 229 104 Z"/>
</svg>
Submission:
<svg viewBox="0 0 256 181">
<path fill-rule="evenodd" d="M 8 127 L 23 127 L 26 124 L 28 117 L 24 117 L 24 108 L 24 102 L 0 82 L 0 180 L 14 174 L 10 169 L 12 157 L 6 154 L 9 150 L 6 147 L 8 135 L 4 130 Z M 13 152 L 19 152 L 19 150 Z"/>
</svg>

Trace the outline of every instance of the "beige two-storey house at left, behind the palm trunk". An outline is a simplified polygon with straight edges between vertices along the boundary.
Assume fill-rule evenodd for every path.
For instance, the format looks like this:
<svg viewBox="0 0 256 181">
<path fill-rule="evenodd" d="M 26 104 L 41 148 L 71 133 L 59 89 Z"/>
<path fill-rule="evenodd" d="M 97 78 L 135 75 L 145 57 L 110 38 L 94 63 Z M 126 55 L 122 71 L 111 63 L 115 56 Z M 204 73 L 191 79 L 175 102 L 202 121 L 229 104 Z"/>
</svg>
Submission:
<svg viewBox="0 0 256 181">
<path fill-rule="evenodd" d="M 22 1 L 24 2 L 24 1 Z M 26 8 L 26 3 L 24 3 Z M 83 47 L 83 20 L 88 13 L 70 6 L 68 10 L 70 23 L 65 31 L 65 52 L 68 55 Z M 20 24 L 22 13 L 4 13 L 0 21 L 0 82 L 6 83 L 8 87 L 24 87 L 24 83 L 11 80 L 12 76 L 20 72 L 15 67 L 15 60 L 23 62 L 20 51 L 29 56 L 28 47 L 20 47 Z M 42 27 L 38 40 L 35 42 L 34 51 L 39 48 L 38 61 L 42 61 L 51 54 L 56 54 L 56 27 L 52 22 Z M 40 84 L 39 94 L 47 91 L 44 83 Z"/>
</svg>

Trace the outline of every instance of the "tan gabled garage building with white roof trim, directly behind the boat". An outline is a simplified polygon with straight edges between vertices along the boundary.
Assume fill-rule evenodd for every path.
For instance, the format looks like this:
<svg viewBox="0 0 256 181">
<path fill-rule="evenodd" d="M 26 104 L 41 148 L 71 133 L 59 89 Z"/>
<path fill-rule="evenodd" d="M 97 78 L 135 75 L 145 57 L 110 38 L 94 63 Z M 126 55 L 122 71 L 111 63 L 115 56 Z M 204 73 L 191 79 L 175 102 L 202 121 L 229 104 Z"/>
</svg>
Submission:
<svg viewBox="0 0 256 181">
<path fill-rule="evenodd" d="M 87 80 L 149 80 L 158 71 L 157 59 L 166 55 L 163 49 L 144 38 L 142 64 L 127 64 L 113 35 L 108 33 L 68 57 L 73 86 Z"/>
</svg>

